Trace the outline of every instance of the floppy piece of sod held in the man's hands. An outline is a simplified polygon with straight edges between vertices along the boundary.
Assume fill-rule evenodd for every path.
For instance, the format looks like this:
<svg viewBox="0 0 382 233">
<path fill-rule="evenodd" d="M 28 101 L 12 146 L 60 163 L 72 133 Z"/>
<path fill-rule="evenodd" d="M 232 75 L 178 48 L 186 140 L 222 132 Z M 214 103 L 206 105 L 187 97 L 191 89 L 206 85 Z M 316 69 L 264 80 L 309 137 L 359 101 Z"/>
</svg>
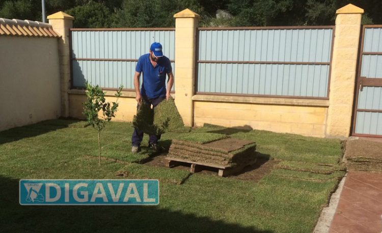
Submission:
<svg viewBox="0 0 382 233">
<path fill-rule="evenodd" d="M 150 135 L 166 132 L 189 132 L 189 127 L 184 127 L 173 98 L 163 100 L 154 109 L 146 101 L 142 101 L 137 115 L 134 115 L 132 124 L 135 128 Z"/>
</svg>

